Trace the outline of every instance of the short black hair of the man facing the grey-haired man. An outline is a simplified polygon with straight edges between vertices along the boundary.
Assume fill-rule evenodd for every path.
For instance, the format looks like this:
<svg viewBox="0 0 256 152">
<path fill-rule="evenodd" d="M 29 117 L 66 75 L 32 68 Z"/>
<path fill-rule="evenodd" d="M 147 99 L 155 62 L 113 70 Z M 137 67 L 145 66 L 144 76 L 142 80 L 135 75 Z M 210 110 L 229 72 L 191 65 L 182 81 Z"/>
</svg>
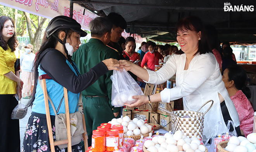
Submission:
<svg viewBox="0 0 256 152">
<path fill-rule="evenodd" d="M 121 29 L 126 29 L 127 28 L 127 23 L 126 23 L 125 19 L 123 18 L 123 16 L 121 16 L 120 14 L 117 14 L 115 12 L 111 12 L 107 16 L 107 19 L 109 19 L 109 21 L 112 22 L 113 29 L 118 28 L 118 27 L 120 27 Z"/>
</svg>

